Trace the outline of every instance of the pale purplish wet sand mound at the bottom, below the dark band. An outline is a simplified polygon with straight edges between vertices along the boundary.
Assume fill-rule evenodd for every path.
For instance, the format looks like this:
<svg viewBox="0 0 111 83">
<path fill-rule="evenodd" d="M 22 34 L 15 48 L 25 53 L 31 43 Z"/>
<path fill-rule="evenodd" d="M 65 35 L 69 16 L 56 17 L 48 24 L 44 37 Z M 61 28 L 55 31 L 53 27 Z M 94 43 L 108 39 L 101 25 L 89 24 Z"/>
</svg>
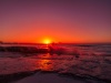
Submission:
<svg viewBox="0 0 111 83">
<path fill-rule="evenodd" d="M 37 72 L 13 83 L 105 83 L 93 79 L 80 77 L 75 75 L 58 74 L 56 72 Z"/>
</svg>

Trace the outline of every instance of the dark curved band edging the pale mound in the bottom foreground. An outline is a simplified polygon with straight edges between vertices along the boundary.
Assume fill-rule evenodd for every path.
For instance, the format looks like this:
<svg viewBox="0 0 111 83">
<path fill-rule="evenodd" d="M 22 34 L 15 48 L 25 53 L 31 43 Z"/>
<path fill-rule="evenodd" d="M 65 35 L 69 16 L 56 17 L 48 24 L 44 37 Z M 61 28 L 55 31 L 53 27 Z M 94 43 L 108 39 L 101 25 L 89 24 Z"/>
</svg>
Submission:
<svg viewBox="0 0 111 83">
<path fill-rule="evenodd" d="M 79 80 L 79 81 L 83 81 L 83 83 L 85 81 L 94 81 L 94 83 L 111 83 L 111 80 L 103 80 L 103 79 L 98 79 L 94 76 L 90 76 L 90 75 L 75 75 L 72 73 L 59 73 L 56 71 L 41 71 L 41 70 L 34 70 L 34 71 L 28 71 L 28 72 L 19 72 L 19 73 L 12 73 L 12 74 L 2 74 L 0 75 L 0 83 L 18 83 L 19 81 L 33 76 L 36 73 L 39 74 L 58 74 L 58 76 L 61 77 L 70 77 L 73 80 Z M 38 77 L 38 76 L 37 76 Z M 46 83 L 46 82 L 44 82 Z"/>
</svg>

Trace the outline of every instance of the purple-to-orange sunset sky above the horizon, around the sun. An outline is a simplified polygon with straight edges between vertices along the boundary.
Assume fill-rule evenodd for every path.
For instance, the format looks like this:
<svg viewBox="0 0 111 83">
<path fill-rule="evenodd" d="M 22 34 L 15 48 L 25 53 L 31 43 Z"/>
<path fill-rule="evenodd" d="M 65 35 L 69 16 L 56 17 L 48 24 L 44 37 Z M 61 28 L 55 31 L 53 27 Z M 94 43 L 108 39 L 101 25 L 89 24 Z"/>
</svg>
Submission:
<svg viewBox="0 0 111 83">
<path fill-rule="evenodd" d="M 0 0 L 0 41 L 111 42 L 111 0 Z"/>
</svg>

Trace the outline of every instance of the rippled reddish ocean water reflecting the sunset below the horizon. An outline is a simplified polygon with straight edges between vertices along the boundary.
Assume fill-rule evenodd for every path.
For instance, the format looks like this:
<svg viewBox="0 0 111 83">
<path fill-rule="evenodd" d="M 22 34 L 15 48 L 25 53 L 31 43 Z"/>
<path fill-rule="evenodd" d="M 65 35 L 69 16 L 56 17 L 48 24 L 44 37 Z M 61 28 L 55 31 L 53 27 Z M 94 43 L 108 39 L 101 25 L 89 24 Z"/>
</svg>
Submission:
<svg viewBox="0 0 111 83">
<path fill-rule="evenodd" d="M 0 44 L 0 46 L 34 46 L 38 49 L 48 49 L 46 44 Z M 16 75 L 18 73 L 22 75 L 22 72 L 32 73 L 34 71 L 41 74 L 43 74 L 43 72 L 52 72 L 68 76 L 70 74 L 73 79 L 75 76 L 81 81 L 83 79 L 83 83 L 87 83 L 85 81 L 91 83 L 111 82 L 111 44 L 52 44 L 51 46 L 56 49 L 53 54 L 49 52 L 0 52 L 0 83 L 6 82 L 7 75 Z M 61 52 L 61 54 L 57 52 Z M 79 56 L 77 56 L 77 54 Z M 11 81 L 7 79 L 6 83 L 9 83 L 9 81 L 13 82 L 17 77 L 18 76 L 13 79 L 13 76 L 11 76 Z M 68 83 L 73 82 L 74 81 L 71 80 L 71 82 Z M 20 81 L 18 83 L 22 82 Z"/>
</svg>

